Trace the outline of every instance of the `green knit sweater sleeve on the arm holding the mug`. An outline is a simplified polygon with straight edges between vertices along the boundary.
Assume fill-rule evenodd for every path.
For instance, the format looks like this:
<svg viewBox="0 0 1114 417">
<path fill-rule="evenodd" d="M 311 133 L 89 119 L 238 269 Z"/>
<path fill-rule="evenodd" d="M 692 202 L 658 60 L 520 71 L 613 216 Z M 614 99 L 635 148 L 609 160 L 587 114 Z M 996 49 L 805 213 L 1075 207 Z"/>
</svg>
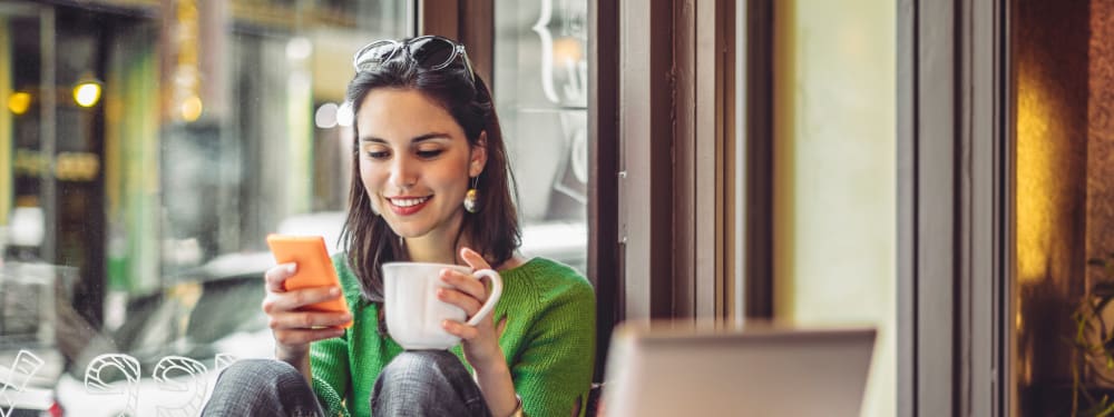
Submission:
<svg viewBox="0 0 1114 417">
<path fill-rule="evenodd" d="M 596 300 L 584 278 L 577 277 L 540 300 L 547 306 L 529 331 L 530 342 L 511 369 L 515 389 L 527 416 L 568 416 L 585 401 L 595 364 Z"/>
</svg>

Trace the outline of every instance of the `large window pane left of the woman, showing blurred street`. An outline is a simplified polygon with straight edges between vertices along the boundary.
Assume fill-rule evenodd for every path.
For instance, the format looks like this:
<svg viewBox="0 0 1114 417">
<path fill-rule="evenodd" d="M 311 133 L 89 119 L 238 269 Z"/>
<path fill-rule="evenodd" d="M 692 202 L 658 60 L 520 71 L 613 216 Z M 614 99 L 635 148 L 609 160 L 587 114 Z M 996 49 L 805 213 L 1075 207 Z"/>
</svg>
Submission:
<svg viewBox="0 0 1114 417">
<path fill-rule="evenodd" d="M 0 415 L 196 415 L 217 370 L 270 357 L 264 237 L 336 241 L 352 52 L 414 21 L 408 0 L 0 4 Z"/>
</svg>

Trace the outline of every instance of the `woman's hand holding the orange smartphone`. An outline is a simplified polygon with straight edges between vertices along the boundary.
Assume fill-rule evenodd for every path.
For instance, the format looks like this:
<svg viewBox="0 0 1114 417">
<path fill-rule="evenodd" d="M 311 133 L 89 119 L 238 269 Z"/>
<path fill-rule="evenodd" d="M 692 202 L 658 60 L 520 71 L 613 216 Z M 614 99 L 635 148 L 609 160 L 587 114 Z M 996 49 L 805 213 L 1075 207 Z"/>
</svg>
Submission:
<svg viewBox="0 0 1114 417">
<path fill-rule="evenodd" d="M 297 270 L 295 264 L 282 264 L 267 269 L 266 297 L 263 312 L 270 318 L 275 337 L 275 355 L 280 360 L 300 368 L 307 357 L 310 342 L 344 334 L 339 326 L 349 322 L 346 312 L 302 311 L 302 307 L 341 297 L 339 287 L 304 288 L 287 291 L 286 279 Z"/>
</svg>

